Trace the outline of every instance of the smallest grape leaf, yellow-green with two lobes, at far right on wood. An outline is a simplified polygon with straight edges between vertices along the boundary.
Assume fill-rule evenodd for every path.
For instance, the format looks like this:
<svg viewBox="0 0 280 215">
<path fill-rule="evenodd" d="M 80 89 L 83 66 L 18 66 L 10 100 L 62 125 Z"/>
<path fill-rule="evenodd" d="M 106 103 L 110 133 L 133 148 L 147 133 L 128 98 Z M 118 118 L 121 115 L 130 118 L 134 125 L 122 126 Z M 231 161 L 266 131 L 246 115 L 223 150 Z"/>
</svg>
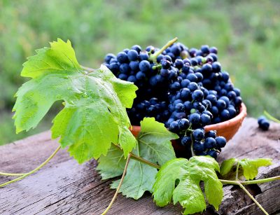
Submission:
<svg viewBox="0 0 280 215">
<path fill-rule="evenodd" d="M 266 167 L 272 165 L 272 159 L 269 158 L 257 158 L 257 159 L 248 159 L 244 158 L 238 160 L 237 158 L 230 158 L 224 160 L 221 165 L 221 175 L 228 174 L 232 167 L 235 165 L 241 165 L 243 169 L 243 175 L 247 180 L 254 179 L 258 174 L 259 167 Z"/>
</svg>

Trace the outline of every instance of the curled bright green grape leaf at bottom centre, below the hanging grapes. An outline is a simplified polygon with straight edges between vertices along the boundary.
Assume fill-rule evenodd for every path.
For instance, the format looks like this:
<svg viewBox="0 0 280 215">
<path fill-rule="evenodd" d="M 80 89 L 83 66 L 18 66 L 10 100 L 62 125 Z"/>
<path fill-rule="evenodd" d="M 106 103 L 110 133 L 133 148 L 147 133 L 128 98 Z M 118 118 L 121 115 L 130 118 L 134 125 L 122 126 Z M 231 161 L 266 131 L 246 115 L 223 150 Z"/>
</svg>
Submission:
<svg viewBox="0 0 280 215">
<path fill-rule="evenodd" d="M 219 165 L 214 158 L 195 156 L 187 160 L 176 158 L 169 160 L 160 168 L 153 186 L 153 197 L 159 206 L 171 202 L 180 202 L 185 208 L 183 214 L 194 214 L 206 209 L 200 181 L 204 181 L 204 190 L 209 204 L 216 210 L 223 199 L 223 184 L 218 180 L 216 171 Z M 176 181 L 179 184 L 176 186 Z"/>
</svg>

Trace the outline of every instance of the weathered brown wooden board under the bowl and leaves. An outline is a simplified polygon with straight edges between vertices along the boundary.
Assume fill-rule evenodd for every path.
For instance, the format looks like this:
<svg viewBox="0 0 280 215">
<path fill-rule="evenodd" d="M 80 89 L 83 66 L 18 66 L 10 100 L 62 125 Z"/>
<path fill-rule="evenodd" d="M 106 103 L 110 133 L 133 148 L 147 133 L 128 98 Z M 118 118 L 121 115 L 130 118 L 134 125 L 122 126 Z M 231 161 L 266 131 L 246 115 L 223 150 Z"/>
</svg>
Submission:
<svg viewBox="0 0 280 215">
<path fill-rule="evenodd" d="M 50 132 L 0 147 L 1 172 L 28 172 L 55 151 L 58 144 Z M 246 118 L 241 130 L 219 156 L 226 158 L 272 158 L 274 165 L 262 167 L 257 179 L 280 174 L 280 125 L 272 123 L 268 132 L 258 129 L 255 119 Z M 48 165 L 22 181 L 0 188 L 0 214 L 101 214 L 115 190 L 110 180 L 101 181 L 94 169 L 96 161 L 83 165 L 59 151 Z M 0 183 L 13 179 L 0 176 Z M 280 181 L 248 187 L 269 214 L 280 212 Z M 236 186 L 225 186 L 224 201 L 215 212 L 204 214 L 262 214 L 260 209 Z M 109 214 L 181 214 L 180 205 L 156 207 L 150 193 L 140 200 L 118 195 Z"/>
</svg>

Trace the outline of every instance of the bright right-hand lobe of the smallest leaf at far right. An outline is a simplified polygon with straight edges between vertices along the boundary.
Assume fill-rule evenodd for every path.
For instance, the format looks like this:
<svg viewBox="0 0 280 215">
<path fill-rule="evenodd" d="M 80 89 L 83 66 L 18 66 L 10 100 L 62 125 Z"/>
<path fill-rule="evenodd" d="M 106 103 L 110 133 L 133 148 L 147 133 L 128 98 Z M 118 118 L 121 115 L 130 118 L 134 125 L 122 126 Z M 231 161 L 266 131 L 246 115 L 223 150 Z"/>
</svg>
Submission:
<svg viewBox="0 0 280 215">
<path fill-rule="evenodd" d="M 254 179 L 258 174 L 259 167 L 267 167 L 272 165 L 272 159 L 269 158 L 258 158 L 258 159 L 242 159 L 239 161 L 241 167 L 243 168 L 243 174 L 247 180 Z"/>
</svg>

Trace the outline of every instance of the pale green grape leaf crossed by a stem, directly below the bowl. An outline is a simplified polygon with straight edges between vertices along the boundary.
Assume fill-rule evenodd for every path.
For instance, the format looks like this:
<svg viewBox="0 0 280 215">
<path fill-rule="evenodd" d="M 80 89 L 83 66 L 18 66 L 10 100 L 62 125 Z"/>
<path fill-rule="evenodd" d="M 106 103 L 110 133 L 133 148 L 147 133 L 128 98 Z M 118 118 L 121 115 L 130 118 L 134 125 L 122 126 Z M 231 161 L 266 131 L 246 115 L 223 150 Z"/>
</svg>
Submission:
<svg viewBox="0 0 280 215">
<path fill-rule="evenodd" d="M 168 160 L 176 158 L 170 140 L 177 138 L 177 134 L 169 132 L 165 125 L 155 121 L 155 118 L 144 118 L 141 121 L 141 132 L 137 137 L 137 147 L 132 152 L 141 158 L 163 165 Z M 99 159 L 99 165 L 104 166 L 104 162 Z M 114 165 L 111 168 L 115 167 Z M 99 167 L 99 170 L 101 174 L 106 174 L 106 169 Z M 135 200 L 139 199 L 146 190 L 151 192 L 157 172 L 158 170 L 153 167 L 137 160 L 130 160 L 120 192 Z M 119 180 L 113 181 L 111 188 L 117 188 L 119 183 Z"/>
</svg>

